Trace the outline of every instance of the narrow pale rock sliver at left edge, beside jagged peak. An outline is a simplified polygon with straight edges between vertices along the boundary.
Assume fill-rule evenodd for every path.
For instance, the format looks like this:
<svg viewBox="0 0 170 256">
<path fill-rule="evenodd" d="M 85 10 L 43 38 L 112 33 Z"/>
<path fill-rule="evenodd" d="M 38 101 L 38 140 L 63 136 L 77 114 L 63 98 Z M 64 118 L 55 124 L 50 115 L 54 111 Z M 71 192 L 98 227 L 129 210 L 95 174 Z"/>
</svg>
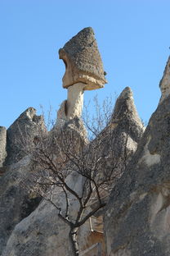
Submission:
<svg viewBox="0 0 170 256">
<path fill-rule="evenodd" d="M 7 130 L 5 127 L 0 126 L 0 167 L 2 167 L 5 158 L 7 157 L 6 152 L 7 146 Z"/>
</svg>

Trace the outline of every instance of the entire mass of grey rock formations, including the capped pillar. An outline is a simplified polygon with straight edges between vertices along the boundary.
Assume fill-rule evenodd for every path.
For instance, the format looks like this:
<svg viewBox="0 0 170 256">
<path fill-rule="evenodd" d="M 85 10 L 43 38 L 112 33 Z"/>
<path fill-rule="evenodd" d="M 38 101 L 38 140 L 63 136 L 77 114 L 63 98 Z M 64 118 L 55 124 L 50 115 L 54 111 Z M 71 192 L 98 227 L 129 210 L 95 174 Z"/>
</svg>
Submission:
<svg viewBox="0 0 170 256">
<path fill-rule="evenodd" d="M 108 256 L 168 256 L 170 58 L 160 81 L 162 97 L 147 128 L 138 117 L 132 90 L 127 87 L 115 103 L 109 124 L 96 139 L 88 141 L 80 118 L 83 92 L 102 88 L 106 83 L 92 28 L 80 31 L 65 43 L 59 55 L 65 62 L 63 87 L 68 90 L 68 98 L 60 106 L 56 126 L 48 132 L 43 118 L 29 107 L 8 130 L 0 127 L 0 254 L 74 255 L 69 240 L 71 226 L 66 221 L 74 223 L 81 203 L 70 191 L 86 197 L 88 190 L 83 185 L 87 184 L 87 176 L 82 174 L 94 176 L 97 170 L 96 182 L 108 173 L 110 181 L 101 188 L 102 193 L 99 191 L 103 208 L 92 213 L 91 219 L 78 229 L 80 255 L 94 256 L 99 250 L 105 256 L 106 247 Z M 64 150 L 69 151 L 64 154 Z M 35 165 L 39 152 L 42 158 Z M 60 166 L 60 175 L 69 186 L 67 197 L 49 162 L 43 165 L 44 158 L 54 164 L 52 168 Z M 88 172 L 81 173 L 78 167 Z M 42 191 L 43 199 L 31 184 L 31 174 L 35 185 L 51 182 Z M 82 216 L 96 208 L 96 199 L 96 189 L 92 189 Z M 97 243 L 101 248 L 96 247 Z"/>
</svg>

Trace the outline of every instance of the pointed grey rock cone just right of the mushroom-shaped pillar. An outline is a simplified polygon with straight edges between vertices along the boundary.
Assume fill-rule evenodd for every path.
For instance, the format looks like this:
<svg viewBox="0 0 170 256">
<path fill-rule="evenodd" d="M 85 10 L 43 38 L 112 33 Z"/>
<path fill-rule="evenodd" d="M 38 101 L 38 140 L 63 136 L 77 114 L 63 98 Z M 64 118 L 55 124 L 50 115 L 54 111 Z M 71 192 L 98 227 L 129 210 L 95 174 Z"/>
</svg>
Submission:
<svg viewBox="0 0 170 256">
<path fill-rule="evenodd" d="M 126 87 L 115 103 L 110 123 L 92 143 L 96 144 L 96 151 L 103 162 L 101 172 L 107 166 L 115 166 L 114 175 L 119 177 L 136 151 L 143 132 L 144 126 L 136 112 L 132 90 Z"/>
</svg>

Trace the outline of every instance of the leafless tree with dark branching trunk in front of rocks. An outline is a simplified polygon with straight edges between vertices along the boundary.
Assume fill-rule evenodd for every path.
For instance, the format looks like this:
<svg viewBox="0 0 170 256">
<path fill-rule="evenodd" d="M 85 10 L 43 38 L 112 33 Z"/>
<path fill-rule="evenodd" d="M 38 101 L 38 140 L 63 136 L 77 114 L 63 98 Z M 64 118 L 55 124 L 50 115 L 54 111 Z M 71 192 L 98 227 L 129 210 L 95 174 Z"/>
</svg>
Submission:
<svg viewBox="0 0 170 256">
<path fill-rule="evenodd" d="M 100 121 L 101 116 L 98 117 Z M 126 164 L 127 138 L 122 138 L 123 150 L 115 153 L 115 135 L 111 125 L 104 130 L 99 129 L 99 123 L 98 130 L 89 126 L 96 136 L 91 142 L 87 141 L 82 131 L 68 127 L 54 128 L 45 133 L 39 130 L 31 143 L 21 135 L 20 147 L 29 154 L 33 162 L 31 179 L 24 185 L 27 184 L 29 190 L 51 202 L 57 209 L 60 219 L 69 225 L 69 239 L 74 255 L 78 256 L 78 228 L 105 207 L 110 189 L 121 176 Z M 71 182 L 74 175 L 77 182 L 81 183 L 79 190 Z M 54 191 L 56 194 L 63 194 L 64 205 L 53 199 Z M 74 216 L 71 213 L 73 202 L 76 202 Z"/>
</svg>

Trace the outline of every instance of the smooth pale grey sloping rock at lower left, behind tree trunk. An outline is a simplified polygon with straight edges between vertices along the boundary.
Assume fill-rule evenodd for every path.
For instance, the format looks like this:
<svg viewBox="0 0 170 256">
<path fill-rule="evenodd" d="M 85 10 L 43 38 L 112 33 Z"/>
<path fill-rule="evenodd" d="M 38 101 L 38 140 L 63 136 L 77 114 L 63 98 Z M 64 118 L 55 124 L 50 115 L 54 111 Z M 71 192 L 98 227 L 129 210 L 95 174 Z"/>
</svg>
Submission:
<svg viewBox="0 0 170 256">
<path fill-rule="evenodd" d="M 69 185 L 75 191 L 81 191 L 81 179 L 77 174 L 68 177 Z M 64 208 L 65 195 L 56 189 L 53 203 Z M 76 212 L 76 204 L 73 203 L 71 214 Z M 58 217 L 58 210 L 49 202 L 42 201 L 38 208 L 16 225 L 7 247 L 2 256 L 60 256 L 73 255 L 73 250 L 69 242 L 69 226 Z"/>
</svg>

